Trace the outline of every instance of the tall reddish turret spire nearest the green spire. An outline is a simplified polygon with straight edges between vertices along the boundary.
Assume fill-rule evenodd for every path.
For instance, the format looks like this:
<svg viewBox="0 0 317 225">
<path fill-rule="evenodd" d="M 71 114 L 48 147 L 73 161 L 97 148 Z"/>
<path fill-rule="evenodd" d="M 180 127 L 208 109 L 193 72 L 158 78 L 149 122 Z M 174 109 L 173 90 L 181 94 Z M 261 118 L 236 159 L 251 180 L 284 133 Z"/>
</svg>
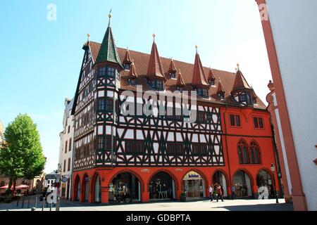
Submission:
<svg viewBox="0 0 317 225">
<path fill-rule="evenodd" d="M 149 59 L 149 67 L 147 69 L 147 77 L 149 78 L 159 78 L 166 80 L 164 76 L 163 67 L 161 63 L 161 58 L 159 56 L 159 51 L 155 43 L 155 34 L 153 34 L 153 44 L 151 49 L 151 56 Z"/>
</svg>

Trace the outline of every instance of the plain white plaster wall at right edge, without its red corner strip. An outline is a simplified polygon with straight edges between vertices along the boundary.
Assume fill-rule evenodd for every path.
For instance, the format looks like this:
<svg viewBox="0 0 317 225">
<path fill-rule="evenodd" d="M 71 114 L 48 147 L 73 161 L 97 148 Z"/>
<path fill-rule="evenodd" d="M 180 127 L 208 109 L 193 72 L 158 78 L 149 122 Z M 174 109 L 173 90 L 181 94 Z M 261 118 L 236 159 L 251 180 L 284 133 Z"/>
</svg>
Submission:
<svg viewBox="0 0 317 225">
<path fill-rule="evenodd" d="M 317 210 L 317 1 L 266 4 L 307 207 Z"/>
</svg>

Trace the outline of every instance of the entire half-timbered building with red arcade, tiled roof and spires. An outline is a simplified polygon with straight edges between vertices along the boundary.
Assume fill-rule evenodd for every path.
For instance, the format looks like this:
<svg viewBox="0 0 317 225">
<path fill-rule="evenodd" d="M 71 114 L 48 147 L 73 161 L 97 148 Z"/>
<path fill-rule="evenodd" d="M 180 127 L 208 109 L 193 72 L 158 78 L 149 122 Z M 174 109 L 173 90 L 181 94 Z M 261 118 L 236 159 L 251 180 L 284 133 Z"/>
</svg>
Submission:
<svg viewBox="0 0 317 225">
<path fill-rule="evenodd" d="M 102 43 L 88 39 L 83 49 L 72 112 L 73 200 L 208 198 L 216 184 L 228 198 L 232 186 L 238 198 L 257 198 L 262 186 L 274 195 L 270 113 L 239 66 L 204 68 L 197 50 L 194 64 L 161 58 L 155 35 L 150 54 L 117 48 L 110 19 Z M 178 98 L 186 91 L 197 99 Z M 138 115 L 149 102 L 151 115 Z"/>
</svg>

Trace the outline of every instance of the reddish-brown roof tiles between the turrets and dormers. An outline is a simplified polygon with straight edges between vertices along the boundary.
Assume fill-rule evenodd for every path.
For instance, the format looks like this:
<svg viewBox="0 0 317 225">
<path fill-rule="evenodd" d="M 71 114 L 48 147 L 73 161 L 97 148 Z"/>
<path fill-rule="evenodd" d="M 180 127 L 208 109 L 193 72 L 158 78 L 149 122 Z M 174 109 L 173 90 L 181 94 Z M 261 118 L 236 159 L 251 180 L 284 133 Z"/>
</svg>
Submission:
<svg viewBox="0 0 317 225">
<path fill-rule="evenodd" d="M 94 59 L 94 62 L 96 61 L 97 54 L 99 52 L 100 44 L 94 41 L 89 41 L 90 50 L 92 51 L 92 58 Z M 125 51 L 126 49 L 118 49 L 118 54 L 120 58 L 123 60 L 125 57 Z M 150 90 L 149 85 L 147 83 L 147 69 L 149 64 L 149 58 L 150 55 L 148 53 L 142 53 L 139 51 L 132 51 L 130 50 L 130 57 L 132 60 L 134 60 L 135 63 L 135 71 L 137 72 L 137 79 L 136 84 L 142 85 L 143 91 Z M 173 60 L 173 63 L 175 64 L 175 68 L 177 70 L 182 71 L 182 79 L 185 82 L 184 90 L 185 91 L 193 91 L 192 88 L 192 75 L 194 72 L 194 65 L 192 63 L 185 63 L 178 60 Z M 161 65 L 164 71 L 168 71 L 170 66 L 170 58 L 163 58 L 161 57 Z M 204 70 L 205 73 L 209 72 L 209 68 L 203 67 L 202 70 Z M 128 78 L 129 78 L 130 70 L 123 70 L 120 72 L 120 88 L 121 89 L 127 89 L 131 91 L 137 91 L 135 85 L 130 85 Z M 216 70 L 213 69 L 213 74 L 215 77 L 219 77 L 221 79 L 221 86 L 223 86 L 223 89 L 225 91 L 225 102 L 228 103 L 228 105 L 235 105 L 238 106 L 238 104 L 235 102 L 235 100 L 230 95 L 230 92 L 232 91 L 232 86 L 235 83 L 235 72 L 226 72 L 223 70 Z M 166 77 L 168 77 L 168 72 L 164 74 Z M 216 86 L 210 86 L 209 89 L 209 96 L 211 96 L 210 99 L 201 99 L 200 101 L 207 101 L 211 103 L 220 103 L 224 104 L 224 101 L 220 100 L 220 97 L 217 94 L 218 91 L 218 82 L 219 79 L 216 79 L 215 85 Z M 175 91 L 177 89 L 177 79 L 168 79 L 166 81 L 166 90 L 169 91 Z M 257 98 L 256 99 L 256 105 L 254 105 L 254 108 L 259 109 L 266 109 L 266 105 Z"/>
</svg>

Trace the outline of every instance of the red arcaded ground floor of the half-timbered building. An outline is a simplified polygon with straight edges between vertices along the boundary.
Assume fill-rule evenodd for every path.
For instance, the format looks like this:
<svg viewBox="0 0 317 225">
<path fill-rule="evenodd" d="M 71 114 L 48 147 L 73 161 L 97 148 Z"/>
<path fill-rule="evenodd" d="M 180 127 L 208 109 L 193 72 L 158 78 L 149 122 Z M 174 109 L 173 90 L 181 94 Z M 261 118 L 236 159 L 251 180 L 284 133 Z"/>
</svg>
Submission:
<svg viewBox="0 0 317 225">
<path fill-rule="evenodd" d="M 274 195 L 278 180 L 270 167 L 247 165 L 228 167 L 113 167 L 74 172 L 73 200 L 101 202 L 142 202 L 151 200 L 209 198 L 209 186 L 221 187 L 223 196 L 258 198 L 259 188 Z M 234 186 L 234 188 L 232 188 Z M 279 186 L 276 185 L 279 192 Z"/>
</svg>

